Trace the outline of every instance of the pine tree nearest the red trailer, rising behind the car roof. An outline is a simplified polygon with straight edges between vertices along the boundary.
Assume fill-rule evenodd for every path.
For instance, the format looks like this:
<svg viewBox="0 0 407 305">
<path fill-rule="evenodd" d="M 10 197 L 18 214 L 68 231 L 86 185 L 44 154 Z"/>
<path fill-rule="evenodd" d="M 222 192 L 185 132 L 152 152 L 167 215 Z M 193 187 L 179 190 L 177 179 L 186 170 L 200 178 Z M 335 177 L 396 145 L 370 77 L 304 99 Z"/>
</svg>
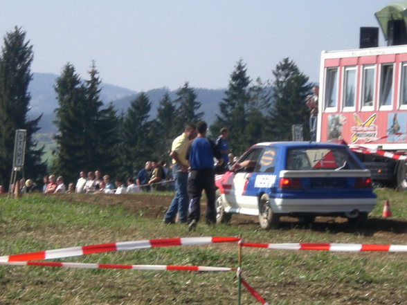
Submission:
<svg viewBox="0 0 407 305">
<path fill-rule="evenodd" d="M 305 98 L 311 91 L 305 74 L 296 64 L 284 58 L 273 71 L 273 107 L 269 112 L 269 135 L 271 140 L 291 140 L 293 124 L 302 124 L 308 128 L 308 112 Z"/>
</svg>

